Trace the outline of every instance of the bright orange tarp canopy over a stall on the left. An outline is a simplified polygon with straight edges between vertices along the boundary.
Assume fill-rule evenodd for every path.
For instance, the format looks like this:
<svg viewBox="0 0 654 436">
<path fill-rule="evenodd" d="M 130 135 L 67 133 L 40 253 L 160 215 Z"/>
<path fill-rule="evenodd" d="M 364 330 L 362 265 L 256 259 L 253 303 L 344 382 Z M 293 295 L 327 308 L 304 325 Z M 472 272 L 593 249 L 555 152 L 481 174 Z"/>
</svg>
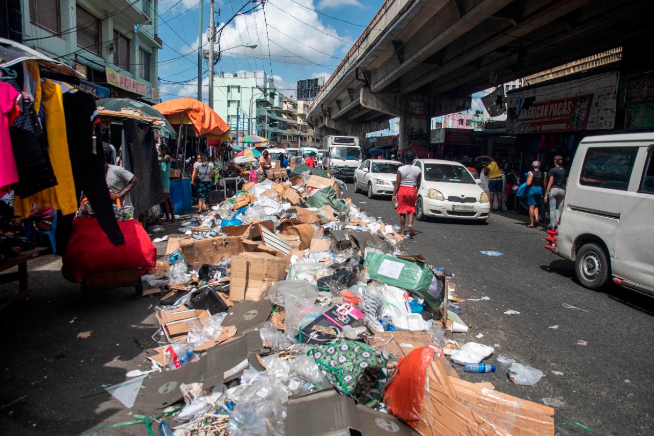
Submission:
<svg viewBox="0 0 654 436">
<path fill-rule="evenodd" d="M 230 141 L 230 126 L 211 107 L 192 98 L 177 98 L 153 106 L 172 124 L 192 124 L 197 136 Z"/>
</svg>

